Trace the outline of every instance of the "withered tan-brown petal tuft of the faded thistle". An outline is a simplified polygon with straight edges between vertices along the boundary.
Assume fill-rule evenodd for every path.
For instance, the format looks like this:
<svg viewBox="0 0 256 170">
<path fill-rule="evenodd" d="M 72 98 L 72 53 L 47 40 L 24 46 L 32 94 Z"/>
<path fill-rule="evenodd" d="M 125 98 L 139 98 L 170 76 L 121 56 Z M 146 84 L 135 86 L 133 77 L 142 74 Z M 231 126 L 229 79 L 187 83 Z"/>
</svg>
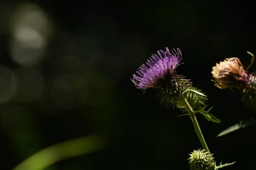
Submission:
<svg viewBox="0 0 256 170">
<path fill-rule="evenodd" d="M 248 73 L 244 70 L 239 58 L 226 58 L 212 67 L 215 86 L 220 89 L 242 88 L 248 81 Z"/>
</svg>

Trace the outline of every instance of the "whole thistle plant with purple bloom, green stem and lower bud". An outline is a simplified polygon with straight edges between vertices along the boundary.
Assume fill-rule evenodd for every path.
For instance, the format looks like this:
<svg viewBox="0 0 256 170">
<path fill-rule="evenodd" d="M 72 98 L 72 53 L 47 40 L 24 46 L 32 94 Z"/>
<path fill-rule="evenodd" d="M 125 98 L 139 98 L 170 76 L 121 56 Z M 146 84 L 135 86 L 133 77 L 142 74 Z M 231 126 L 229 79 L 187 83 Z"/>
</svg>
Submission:
<svg viewBox="0 0 256 170">
<path fill-rule="evenodd" d="M 177 74 L 176 68 L 180 65 L 182 54 L 180 49 L 169 51 L 159 50 L 157 54 L 152 54 L 146 64 L 139 67 L 137 74 L 133 74 L 131 81 L 136 88 L 145 91 L 148 88 L 157 89 L 157 97 L 160 103 L 166 108 L 178 108 L 183 115 L 189 115 L 195 127 L 195 132 L 204 148 L 196 150 L 189 159 L 191 170 L 217 170 L 230 164 L 216 166 L 212 154 L 199 127 L 195 114 L 201 113 L 208 121 L 221 122 L 210 114 L 211 108 L 206 111 L 207 96 L 198 88 L 192 86 L 190 79 Z M 199 153 L 200 152 L 200 153 Z M 233 162 L 234 163 L 234 162 Z M 232 164 L 233 164 L 232 163 Z"/>
</svg>

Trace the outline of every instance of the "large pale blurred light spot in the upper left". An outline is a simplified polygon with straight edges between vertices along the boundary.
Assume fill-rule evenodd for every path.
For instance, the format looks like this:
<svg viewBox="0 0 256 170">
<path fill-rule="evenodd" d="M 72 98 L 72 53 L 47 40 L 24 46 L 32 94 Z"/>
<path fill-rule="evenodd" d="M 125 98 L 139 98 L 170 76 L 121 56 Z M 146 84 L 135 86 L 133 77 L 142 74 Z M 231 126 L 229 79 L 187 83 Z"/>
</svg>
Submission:
<svg viewBox="0 0 256 170">
<path fill-rule="evenodd" d="M 36 65 L 46 54 L 50 35 L 49 19 L 38 6 L 23 3 L 13 17 L 10 44 L 12 59 L 20 65 Z"/>
</svg>

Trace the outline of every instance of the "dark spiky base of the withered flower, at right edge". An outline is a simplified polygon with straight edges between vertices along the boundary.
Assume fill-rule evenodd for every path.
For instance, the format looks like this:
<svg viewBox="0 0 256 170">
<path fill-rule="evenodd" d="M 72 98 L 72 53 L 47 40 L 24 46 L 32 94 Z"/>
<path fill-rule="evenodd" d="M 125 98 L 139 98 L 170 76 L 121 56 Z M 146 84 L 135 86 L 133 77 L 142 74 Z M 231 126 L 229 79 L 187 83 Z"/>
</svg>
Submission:
<svg viewBox="0 0 256 170">
<path fill-rule="evenodd" d="M 246 87 L 242 91 L 242 101 L 252 110 L 256 110 L 256 73 L 249 74 Z"/>
</svg>

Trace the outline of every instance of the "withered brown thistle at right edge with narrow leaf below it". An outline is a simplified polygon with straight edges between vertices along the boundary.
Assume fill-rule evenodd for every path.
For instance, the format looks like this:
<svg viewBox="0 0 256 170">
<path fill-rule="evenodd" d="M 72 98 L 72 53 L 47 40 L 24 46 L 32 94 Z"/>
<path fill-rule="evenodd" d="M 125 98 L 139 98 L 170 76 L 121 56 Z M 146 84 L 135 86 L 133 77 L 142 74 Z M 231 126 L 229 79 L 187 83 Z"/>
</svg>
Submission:
<svg viewBox="0 0 256 170">
<path fill-rule="evenodd" d="M 253 64 L 254 56 L 252 56 L 250 65 L 244 69 L 241 61 L 237 57 L 226 58 L 224 61 L 216 63 L 212 67 L 212 81 L 214 85 L 220 89 L 236 89 L 241 94 L 241 100 L 247 108 L 256 110 L 256 72 L 249 72 Z M 255 124 L 255 120 L 240 122 L 222 131 L 218 136 L 223 136 L 235 130 Z"/>
</svg>

